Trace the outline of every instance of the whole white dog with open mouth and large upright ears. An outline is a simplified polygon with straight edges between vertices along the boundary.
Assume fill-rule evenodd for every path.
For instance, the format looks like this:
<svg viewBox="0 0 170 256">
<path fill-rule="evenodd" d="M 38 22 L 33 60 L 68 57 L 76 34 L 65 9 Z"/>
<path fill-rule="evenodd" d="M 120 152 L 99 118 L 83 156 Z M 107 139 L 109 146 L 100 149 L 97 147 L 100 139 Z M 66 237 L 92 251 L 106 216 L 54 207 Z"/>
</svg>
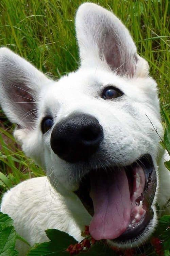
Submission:
<svg viewBox="0 0 170 256">
<path fill-rule="evenodd" d="M 156 227 L 155 204 L 170 198 L 156 82 L 113 13 L 82 4 L 76 31 L 81 66 L 57 82 L 0 49 L 2 109 L 47 173 L 5 193 L 1 211 L 31 245 L 48 241 L 47 228 L 80 241 L 84 225 L 96 240 L 140 245 Z"/>
</svg>

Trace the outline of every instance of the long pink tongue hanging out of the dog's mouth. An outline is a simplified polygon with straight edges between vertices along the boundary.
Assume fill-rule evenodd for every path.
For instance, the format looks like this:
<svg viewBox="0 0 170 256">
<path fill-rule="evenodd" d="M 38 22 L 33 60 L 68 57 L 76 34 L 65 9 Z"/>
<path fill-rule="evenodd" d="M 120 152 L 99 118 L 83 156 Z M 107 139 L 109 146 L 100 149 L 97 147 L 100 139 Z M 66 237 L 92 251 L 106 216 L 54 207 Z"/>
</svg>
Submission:
<svg viewBox="0 0 170 256">
<path fill-rule="evenodd" d="M 89 232 L 95 240 L 114 239 L 128 227 L 131 215 L 129 184 L 124 168 L 116 172 L 94 172 L 90 197 L 94 216 Z"/>
</svg>

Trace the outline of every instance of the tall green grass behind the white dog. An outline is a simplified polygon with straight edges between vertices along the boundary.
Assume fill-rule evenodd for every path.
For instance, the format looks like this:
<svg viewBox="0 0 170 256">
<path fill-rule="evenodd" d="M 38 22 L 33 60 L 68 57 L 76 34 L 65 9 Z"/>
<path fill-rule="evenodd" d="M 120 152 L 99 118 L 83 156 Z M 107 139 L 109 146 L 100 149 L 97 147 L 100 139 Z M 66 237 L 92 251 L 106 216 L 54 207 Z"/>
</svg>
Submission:
<svg viewBox="0 0 170 256">
<path fill-rule="evenodd" d="M 158 83 L 163 123 L 168 121 L 168 0 L 92 0 L 112 10 L 130 30 L 138 53 Z M 79 56 L 74 16 L 81 0 L 1 0 L 0 46 L 7 46 L 58 79 L 75 70 Z M 15 143 L 0 111 L 0 194 L 29 177 L 43 175 Z M 1 196 L 0 196 L 1 197 Z"/>
</svg>

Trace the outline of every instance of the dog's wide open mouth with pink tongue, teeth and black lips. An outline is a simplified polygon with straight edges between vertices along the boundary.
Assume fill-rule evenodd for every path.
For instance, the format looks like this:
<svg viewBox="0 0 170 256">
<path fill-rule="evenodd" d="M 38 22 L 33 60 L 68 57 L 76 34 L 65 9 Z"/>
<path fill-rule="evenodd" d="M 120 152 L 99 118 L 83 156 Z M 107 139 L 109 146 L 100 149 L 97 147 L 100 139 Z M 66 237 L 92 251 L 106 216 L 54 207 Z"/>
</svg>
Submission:
<svg viewBox="0 0 170 256">
<path fill-rule="evenodd" d="M 153 218 L 156 172 L 149 154 L 132 165 L 91 170 L 74 191 L 91 214 L 96 240 L 136 238 Z"/>
</svg>

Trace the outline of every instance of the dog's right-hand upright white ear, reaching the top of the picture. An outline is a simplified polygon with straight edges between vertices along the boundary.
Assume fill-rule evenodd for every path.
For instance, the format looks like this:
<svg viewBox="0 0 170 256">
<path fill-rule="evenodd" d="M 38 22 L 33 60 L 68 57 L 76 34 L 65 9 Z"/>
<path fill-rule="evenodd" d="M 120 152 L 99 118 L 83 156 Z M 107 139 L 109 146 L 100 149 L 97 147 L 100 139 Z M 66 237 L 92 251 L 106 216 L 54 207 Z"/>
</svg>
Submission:
<svg viewBox="0 0 170 256">
<path fill-rule="evenodd" d="M 139 57 L 128 29 L 113 13 L 84 3 L 77 11 L 76 31 L 82 66 L 102 65 L 120 75 L 148 75 L 148 63 Z"/>
</svg>

